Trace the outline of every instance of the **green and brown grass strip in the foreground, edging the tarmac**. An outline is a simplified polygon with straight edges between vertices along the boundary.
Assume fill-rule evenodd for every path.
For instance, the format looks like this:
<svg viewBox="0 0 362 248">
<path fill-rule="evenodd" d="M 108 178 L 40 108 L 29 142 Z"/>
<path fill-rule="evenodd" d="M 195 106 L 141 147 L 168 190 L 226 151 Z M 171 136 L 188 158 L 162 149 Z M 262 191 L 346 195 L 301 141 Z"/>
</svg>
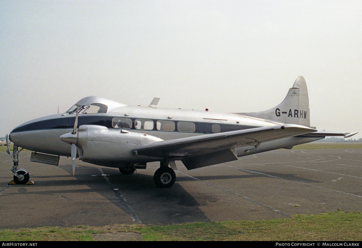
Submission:
<svg viewBox="0 0 362 248">
<path fill-rule="evenodd" d="M 93 234 L 136 232 L 144 241 L 358 241 L 362 212 L 335 211 L 292 215 L 288 219 L 187 223 L 180 225 L 109 225 L 1 230 L 2 241 L 91 241 Z"/>
</svg>

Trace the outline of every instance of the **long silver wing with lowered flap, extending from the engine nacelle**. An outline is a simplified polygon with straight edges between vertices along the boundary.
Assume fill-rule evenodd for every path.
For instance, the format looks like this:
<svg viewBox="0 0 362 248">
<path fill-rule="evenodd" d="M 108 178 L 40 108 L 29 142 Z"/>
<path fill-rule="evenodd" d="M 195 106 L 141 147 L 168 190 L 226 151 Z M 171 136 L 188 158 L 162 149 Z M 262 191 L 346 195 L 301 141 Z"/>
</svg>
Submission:
<svg viewBox="0 0 362 248">
<path fill-rule="evenodd" d="M 140 145 L 135 154 L 181 160 L 188 170 L 237 160 L 235 148 L 316 132 L 295 124 L 252 128 L 224 133 L 205 134 Z"/>
</svg>

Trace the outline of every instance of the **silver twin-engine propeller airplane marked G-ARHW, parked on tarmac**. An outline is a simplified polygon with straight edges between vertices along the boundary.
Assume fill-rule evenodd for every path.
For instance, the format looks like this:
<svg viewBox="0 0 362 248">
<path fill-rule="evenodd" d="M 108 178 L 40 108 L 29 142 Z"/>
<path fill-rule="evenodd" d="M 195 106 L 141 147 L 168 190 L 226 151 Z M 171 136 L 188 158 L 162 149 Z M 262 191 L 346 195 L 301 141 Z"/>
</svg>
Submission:
<svg viewBox="0 0 362 248">
<path fill-rule="evenodd" d="M 282 103 L 266 111 L 216 113 L 127 106 L 99 97 L 86 97 L 67 112 L 28 121 L 9 134 L 14 143 L 14 181 L 25 184 L 29 172 L 18 169 L 18 153 L 34 151 L 31 161 L 58 165 L 59 156 L 119 168 L 123 174 L 160 161 L 153 179 L 171 187 L 180 160 L 188 170 L 237 160 L 238 157 L 355 133 L 319 132 L 310 127 L 306 81 L 298 77 Z M 79 126 L 79 128 L 77 128 Z M 22 147 L 18 150 L 18 147 Z M 50 155 L 51 154 L 51 155 Z"/>
</svg>

